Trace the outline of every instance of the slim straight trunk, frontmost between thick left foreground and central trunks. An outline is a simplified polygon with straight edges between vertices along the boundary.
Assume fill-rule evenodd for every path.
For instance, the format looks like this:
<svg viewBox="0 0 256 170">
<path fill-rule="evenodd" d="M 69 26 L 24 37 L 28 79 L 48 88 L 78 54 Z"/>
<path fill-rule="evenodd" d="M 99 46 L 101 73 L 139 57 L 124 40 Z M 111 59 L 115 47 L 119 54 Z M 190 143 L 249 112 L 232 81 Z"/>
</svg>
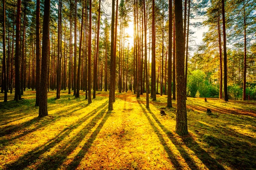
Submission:
<svg viewBox="0 0 256 170">
<path fill-rule="evenodd" d="M 92 56 L 92 0 L 89 5 L 89 44 L 88 44 L 88 103 L 92 103 L 91 96 L 91 56 Z"/>
</svg>

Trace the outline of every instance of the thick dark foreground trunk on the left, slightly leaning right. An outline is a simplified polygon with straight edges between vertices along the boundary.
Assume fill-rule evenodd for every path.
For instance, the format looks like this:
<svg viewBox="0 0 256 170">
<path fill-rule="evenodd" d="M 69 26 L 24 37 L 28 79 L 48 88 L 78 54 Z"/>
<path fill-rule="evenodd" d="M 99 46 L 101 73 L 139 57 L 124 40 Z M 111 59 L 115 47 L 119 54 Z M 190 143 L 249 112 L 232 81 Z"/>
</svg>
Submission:
<svg viewBox="0 0 256 170">
<path fill-rule="evenodd" d="M 44 21 L 43 21 L 43 42 L 42 42 L 42 64 L 41 64 L 41 83 L 40 83 L 40 100 L 39 116 L 48 115 L 47 111 L 47 70 L 48 70 L 48 42 L 49 42 L 49 21 L 50 21 L 50 0 L 44 1 Z"/>
</svg>

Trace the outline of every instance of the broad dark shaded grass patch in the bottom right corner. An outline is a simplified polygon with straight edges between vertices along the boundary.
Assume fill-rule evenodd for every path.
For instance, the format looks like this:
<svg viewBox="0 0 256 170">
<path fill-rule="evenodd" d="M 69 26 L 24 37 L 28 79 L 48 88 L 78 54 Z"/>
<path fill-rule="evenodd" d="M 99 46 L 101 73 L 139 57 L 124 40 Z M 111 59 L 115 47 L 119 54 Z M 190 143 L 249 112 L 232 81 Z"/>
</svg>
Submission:
<svg viewBox="0 0 256 170">
<path fill-rule="evenodd" d="M 195 127 L 200 127 L 200 124 L 197 122 Z M 255 169 L 256 161 L 252 161 L 256 160 L 255 138 L 251 137 L 248 142 L 248 137 L 228 127 L 204 125 L 200 129 L 205 133 L 200 139 L 213 148 L 216 159 L 225 162 L 232 169 Z M 191 138 L 184 139 L 184 142 L 188 147 L 196 147 Z"/>
</svg>

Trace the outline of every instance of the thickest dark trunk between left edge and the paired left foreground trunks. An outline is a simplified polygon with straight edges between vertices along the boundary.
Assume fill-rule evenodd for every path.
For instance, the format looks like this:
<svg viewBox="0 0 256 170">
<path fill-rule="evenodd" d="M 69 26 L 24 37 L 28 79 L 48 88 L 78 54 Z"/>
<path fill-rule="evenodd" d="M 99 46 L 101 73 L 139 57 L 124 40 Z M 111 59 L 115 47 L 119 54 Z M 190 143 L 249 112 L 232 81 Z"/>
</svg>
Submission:
<svg viewBox="0 0 256 170">
<path fill-rule="evenodd" d="M 14 100 L 21 99 L 20 94 L 20 10 L 21 0 L 17 0 L 17 16 L 16 16 L 16 40 L 15 40 L 15 96 Z"/>
</svg>

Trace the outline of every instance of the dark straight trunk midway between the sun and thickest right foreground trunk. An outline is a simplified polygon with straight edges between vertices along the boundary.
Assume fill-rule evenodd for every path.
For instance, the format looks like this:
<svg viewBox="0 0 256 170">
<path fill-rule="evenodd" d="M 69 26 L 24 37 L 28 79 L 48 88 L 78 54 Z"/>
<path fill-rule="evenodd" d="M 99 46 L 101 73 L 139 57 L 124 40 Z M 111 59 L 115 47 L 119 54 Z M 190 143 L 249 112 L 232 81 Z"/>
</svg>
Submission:
<svg viewBox="0 0 256 170">
<path fill-rule="evenodd" d="M 152 62 L 151 62 L 151 69 L 152 69 L 152 77 L 151 77 L 151 88 L 152 90 L 152 98 L 153 101 L 157 100 L 156 95 L 156 34 L 155 34 L 155 3 L 154 0 L 152 1 Z"/>
</svg>

